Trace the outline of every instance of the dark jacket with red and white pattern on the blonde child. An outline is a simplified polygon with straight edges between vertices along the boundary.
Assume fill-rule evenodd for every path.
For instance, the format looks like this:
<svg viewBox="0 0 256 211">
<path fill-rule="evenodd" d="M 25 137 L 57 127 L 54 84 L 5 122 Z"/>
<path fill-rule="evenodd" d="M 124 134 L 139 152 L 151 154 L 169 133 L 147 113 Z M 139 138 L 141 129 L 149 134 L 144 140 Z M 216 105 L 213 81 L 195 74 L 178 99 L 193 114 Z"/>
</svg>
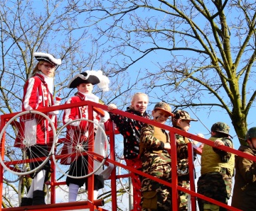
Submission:
<svg viewBox="0 0 256 211">
<path fill-rule="evenodd" d="M 149 115 L 146 112 L 142 115 L 138 111 L 129 107 L 126 112 L 139 115 L 144 118 L 149 118 Z M 139 122 L 114 113 L 110 113 L 110 119 L 117 125 L 117 129 L 124 137 L 124 158 L 136 158 L 139 155 L 139 138 L 144 122 Z"/>
</svg>

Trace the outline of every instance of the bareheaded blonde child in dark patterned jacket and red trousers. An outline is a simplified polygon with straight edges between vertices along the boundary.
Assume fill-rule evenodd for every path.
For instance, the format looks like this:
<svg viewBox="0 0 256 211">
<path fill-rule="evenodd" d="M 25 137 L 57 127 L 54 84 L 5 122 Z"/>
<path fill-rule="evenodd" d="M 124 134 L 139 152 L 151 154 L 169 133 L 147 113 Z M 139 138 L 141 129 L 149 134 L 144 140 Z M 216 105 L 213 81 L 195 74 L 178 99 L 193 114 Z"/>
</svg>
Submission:
<svg viewBox="0 0 256 211">
<path fill-rule="evenodd" d="M 127 113 L 139 115 L 143 118 L 149 118 L 146 113 L 146 107 L 149 103 L 149 97 L 145 93 L 135 93 L 132 97 L 131 105 L 127 108 Z M 117 106 L 110 104 L 109 110 L 117 109 Z M 143 122 L 126 118 L 121 115 L 110 113 L 110 119 L 117 125 L 117 129 L 124 137 L 124 160 L 127 166 L 132 166 L 135 169 L 142 168 L 142 161 L 139 159 L 139 138 L 141 135 Z M 136 173 L 131 173 L 133 186 L 133 205 L 136 211 L 142 210 L 141 201 L 141 181 Z"/>
</svg>

